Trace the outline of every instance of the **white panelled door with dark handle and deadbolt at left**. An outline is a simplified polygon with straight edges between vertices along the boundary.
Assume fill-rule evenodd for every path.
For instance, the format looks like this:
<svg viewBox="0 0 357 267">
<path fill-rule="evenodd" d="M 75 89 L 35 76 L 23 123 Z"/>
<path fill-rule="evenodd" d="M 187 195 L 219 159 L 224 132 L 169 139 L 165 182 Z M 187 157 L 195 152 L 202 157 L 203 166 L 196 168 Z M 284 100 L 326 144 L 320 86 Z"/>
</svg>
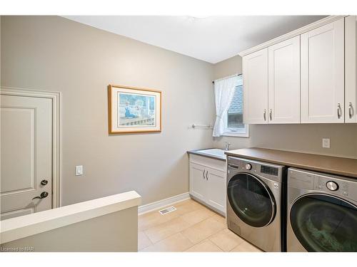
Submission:
<svg viewBox="0 0 357 267">
<path fill-rule="evenodd" d="M 52 208 L 51 101 L 1 95 L 1 219 Z"/>
</svg>

